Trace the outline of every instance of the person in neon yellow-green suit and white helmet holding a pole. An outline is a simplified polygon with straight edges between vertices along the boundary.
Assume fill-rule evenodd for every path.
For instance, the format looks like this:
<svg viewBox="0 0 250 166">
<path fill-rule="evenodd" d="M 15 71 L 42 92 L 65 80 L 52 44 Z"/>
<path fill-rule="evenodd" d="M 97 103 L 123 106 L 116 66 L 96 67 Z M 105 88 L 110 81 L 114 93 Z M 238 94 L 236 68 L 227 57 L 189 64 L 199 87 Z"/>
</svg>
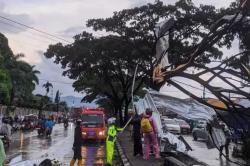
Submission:
<svg viewBox="0 0 250 166">
<path fill-rule="evenodd" d="M 106 139 L 106 157 L 107 165 L 113 165 L 113 154 L 114 154 L 114 145 L 117 137 L 117 133 L 122 131 L 122 128 L 118 128 L 115 125 L 116 118 L 108 119 L 108 136 Z"/>
</svg>

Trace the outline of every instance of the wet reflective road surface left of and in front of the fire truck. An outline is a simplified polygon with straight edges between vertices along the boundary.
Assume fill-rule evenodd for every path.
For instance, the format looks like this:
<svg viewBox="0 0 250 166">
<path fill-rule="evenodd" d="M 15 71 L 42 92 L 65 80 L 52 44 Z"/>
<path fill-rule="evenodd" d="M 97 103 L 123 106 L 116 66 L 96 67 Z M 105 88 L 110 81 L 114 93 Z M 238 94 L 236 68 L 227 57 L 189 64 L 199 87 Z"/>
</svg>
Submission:
<svg viewBox="0 0 250 166">
<path fill-rule="evenodd" d="M 67 130 L 63 124 L 56 125 L 51 138 L 38 136 L 37 131 L 16 132 L 12 135 L 10 147 L 6 150 L 10 159 L 9 165 L 33 165 L 45 158 L 57 159 L 63 165 L 69 165 L 73 156 L 72 144 L 74 126 L 70 124 Z M 82 146 L 84 166 L 101 166 L 104 164 L 104 144 L 88 143 Z"/>
</svg>

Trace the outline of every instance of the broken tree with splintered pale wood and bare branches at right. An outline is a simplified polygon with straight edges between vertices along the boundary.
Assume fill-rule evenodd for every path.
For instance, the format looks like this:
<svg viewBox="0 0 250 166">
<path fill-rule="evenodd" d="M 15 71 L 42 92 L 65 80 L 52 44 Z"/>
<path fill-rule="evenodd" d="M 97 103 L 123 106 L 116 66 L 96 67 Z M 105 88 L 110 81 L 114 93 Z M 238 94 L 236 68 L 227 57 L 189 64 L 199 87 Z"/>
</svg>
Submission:
<svg viewBox="0 0 250 166">
<path fill-rule="evenodd" d="M 229 15 L 218 19 L 197 45 L 188 51 L 179 51 L 182 57 L 188 57 L 183 63 L 176 65 L 173 62 L 171 64 L 170 61 L 169 65 L 162 66 L 162 60 L 166 59 L 165 56 L 171 57 L 171 52 L 169 51 L 171 48 L 164 50 L 164 53 L 161 54 L 162 57 L 155 61 L 154 82 L 157 89 L 160 89 L 160 87 L 167 83 L 198 102 L 214 108 L 216 112 L 217 110 L 227 111 L 229 114 L 232 114 L 232 117 L 236 121 L 240 120 L 241 122 L 239 123 L 246 123 L 247 126 L 250 126 L 249 106 L 235 102 L 230 96 L 230 94 L 234 94 L 237 98 L 250 102 L 250 93 L 247 91 L 247 88 L 250 87 L 250 1 L 238 1 L 238 3 L 234 3 L 226 11 L 225 13 L 229 13 Z M 239 53 L 227 56 L 214 66 L 200 63 L 200 60 L 205 58 L 205 53 L 212 47 L 220 46 L 225 42 L 228 42 L 228 47 L 230 47 L 235 36 L 240 41 Z M 190 69 L 192 69 L 192 73 L 190 73 Z M 204 78 L 204 75 L 209 77 Z M 176 77 L 191 80 L 204 86 L 225 107 L 218 107 L 211 104 L 195 92 L 185 89 L 179 81 L 174 79 Z M 220 81 L 220 85 L 213 84 L 215 79 Z M 230 124 L 228 125 L 230 126 Z M 249 128 L 241 125 L 241 129 L 245 138 L 244 147 L 249 147 L 249 139 L 247 138 Z M 247 158 L 249 152 L 246 149 L 244 148 L 245 157 Z"/>
</svg>

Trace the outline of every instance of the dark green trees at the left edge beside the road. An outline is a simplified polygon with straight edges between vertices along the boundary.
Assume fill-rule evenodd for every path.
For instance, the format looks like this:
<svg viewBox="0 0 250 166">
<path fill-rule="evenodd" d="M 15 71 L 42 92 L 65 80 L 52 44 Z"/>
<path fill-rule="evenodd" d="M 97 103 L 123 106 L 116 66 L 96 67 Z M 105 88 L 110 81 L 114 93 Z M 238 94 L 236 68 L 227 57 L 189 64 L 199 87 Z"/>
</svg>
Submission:
<svg viewBox="0 0 250 166">
<path fill-rule="evenodd" d="M 1 103 L 16 106 L 30 105 L 35 85 L 39 83 L 35 66 L 20 60 L 23 54 L 14 55 L 7 38 L 0 33 L 0 90 Z"/>
</svg>

